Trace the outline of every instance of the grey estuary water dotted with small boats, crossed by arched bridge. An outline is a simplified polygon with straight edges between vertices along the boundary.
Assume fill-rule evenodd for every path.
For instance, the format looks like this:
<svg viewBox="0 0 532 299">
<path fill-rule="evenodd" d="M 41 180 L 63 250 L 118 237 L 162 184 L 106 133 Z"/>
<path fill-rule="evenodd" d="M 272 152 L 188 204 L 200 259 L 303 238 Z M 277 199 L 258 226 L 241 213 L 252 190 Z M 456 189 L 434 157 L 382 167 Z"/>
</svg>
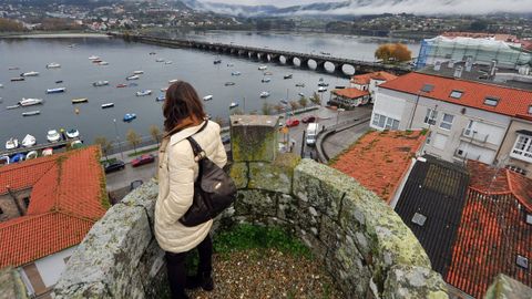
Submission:
<svg viewBox="0 0 532 299">
<path fill-rule="evenodd" d="M 311 48 L 309 51 L 356 59 L 365 59 L 366 55 L 357 56 L 352 53 L 362 51 L 370 55 L 379 43 L 361 42 L 354 38 L 349 41 L 338 35 L 324 34 L 294 38 L 286 34 L 214 32 L 188 37 L 255 47 L 268 45 L 273 49 L 289 47 L 293 51 L 301 52 L 304 48 Z M 360 48 L 360 43 L 364 47 Z M 412 50 L 416 53 L 416 48 Z M 98 55 L 109 64 L 98 65 L 89 60 L 91 55 Z M 217 59 L 222 62 L 214 64 Z M 61 68 L 47 69 L 47 64 L 52 62 L 61 64 Z M 35 136 L 38 143 L 45 143 L 47 132 L 52 128 L 78 128 L 85 143 L 92 143 L 96 136 L 113 141 L 119 136 L 124 141 L 129 128 L 149 135 L 150 125 L 162 127 L 162 102 L 156 102 L 155 97 L 162 94 L 161 89 L 168 86 L 170 80 L 188 81 L 201 97 L 213 95 L 211 101 L 204 102 L 205 109 L 213 117 L 223 118 L 228 117 L 232 102 L 238 103 L 241 111 L 260 111 L 265 102 L 278 104 L 280 100 L 297 100 L 299 93 L 310 96 L 317 91 L 321 78 L 329 83 L 329 91 L 337 85 L 348 85 L 349 82 L 347 75 L 317 73 L 306 68 L 275 63 L 266 63 L 267 70 L 260 71 L 258 66 L 262 64 L 244 58 L 129 43 L 106 37 L 0 39 L 0 84 L 3 85 L 0 87 L 0 146 L 3 150 L 9 137 L 17 137 L 20 142 L 25 134 Z M 21 82 L 10 81 L 11 78 L 30 71 L 39 72 L 39 75 L 25 78 Z M 144 73 L 140 74 L 139 80 L 126 81 L 125 78 L 134 71 Z M 232 72 L 242 74 L 235 76 Z M 264 72 L 272 74 L 265 75 Z M 293 78 L 285 80 L 284 75 L 289 73 Z M 263 83 L 265 78 L 269 78 L 270 82 Z M 57 81 L 62 83 L 55 83 Z M 109 81 L 110 84 L 95 87 L 92 83 L 96 81 Z M 226 82 L 235 84 L 226 86 Z M 117 89 L 116 85 L 121 83 L 137 85 Z M 297 87 L 296 83 L 304 83 L 305 86 Z M 47 94 L 47 89 L 53 87 L 65 87 L 66 92 Z M 136 96 L 135 93 L 142 90 L 152 90 L 152 94 Z M 269 92 L 270 95 L 262 99 L 260 92 Z M 7 106 L 16 105 L 22 97 L 43 99 L 44 104 L 7 110 Z M 79 97 L 88 97 L 89 102 L 75 105 L 71 103 L 72 99 Z M 323 93 L 323 99 L 324 102 L 329 99 L 328 91 Z M 102 104 L 110 102 L 114 103 L 114 107 L 101 109 Z M 41 114 L 22 116 L 23 112 L 34 110 Z M 137 118 L 125 123 L 122 120 L 126 113 L 135 113 Z"/>
</svg>

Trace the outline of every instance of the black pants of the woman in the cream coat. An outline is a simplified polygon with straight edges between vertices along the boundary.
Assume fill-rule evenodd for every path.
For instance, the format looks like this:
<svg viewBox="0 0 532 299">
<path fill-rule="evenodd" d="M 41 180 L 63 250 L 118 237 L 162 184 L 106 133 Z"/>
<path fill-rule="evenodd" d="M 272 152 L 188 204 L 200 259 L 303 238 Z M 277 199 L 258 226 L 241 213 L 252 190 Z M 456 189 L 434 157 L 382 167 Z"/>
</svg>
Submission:
<svg viewBox="0 0 532 299">
<path fill-rule="evenodd" d="M 200 254 L 197 274 L 209 275 L 213 270 L 213 241 L 211 240 L 211 235 L 207 235 L 207 237 L 200 243 L 196 248 Z M 185 259 L 188 252 L 190 251 L 174 254 L 166 251 L 166 269 L 168 271 L 168 282 L 170 290 L 172 291 L 172 299 L 187 298 L 185 295 Z"/>
</svg>

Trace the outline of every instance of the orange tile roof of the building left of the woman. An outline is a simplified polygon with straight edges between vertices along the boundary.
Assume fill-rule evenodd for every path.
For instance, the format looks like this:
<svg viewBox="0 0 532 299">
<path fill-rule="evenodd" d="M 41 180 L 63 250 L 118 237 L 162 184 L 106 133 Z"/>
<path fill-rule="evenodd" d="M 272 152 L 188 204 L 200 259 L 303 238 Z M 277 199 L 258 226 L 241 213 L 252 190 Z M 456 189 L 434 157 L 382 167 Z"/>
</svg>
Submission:
<svg viewBox="0 0 532 299">
<path fill-rule="evenodd" d="M 24 188 L 34 182 L 28 214 L 0 223 L 0 268 L 18 267 L 79 244 L 105 214 L 99 151 L 91 146 L 0 168 L 0 182 L 17 175 L 16 169 L 24 172 L 18 176 L 25 179 L 20 184 Z"/>
</svg>

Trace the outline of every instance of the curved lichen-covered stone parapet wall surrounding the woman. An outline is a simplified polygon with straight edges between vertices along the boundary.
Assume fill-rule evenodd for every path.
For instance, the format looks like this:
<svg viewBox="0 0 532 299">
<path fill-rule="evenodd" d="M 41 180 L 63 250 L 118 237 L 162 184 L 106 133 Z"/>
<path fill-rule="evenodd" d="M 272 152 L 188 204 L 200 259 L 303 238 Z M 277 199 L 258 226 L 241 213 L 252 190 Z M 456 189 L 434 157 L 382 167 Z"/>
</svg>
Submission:
<svg viewBox="0 0 532 299">
<path fill-rule="evenodd" d="M 270 144 L 276 117 L 237 121 L 232 118 L 233 141 L 262 142 L 232 144 L 238 196 L 214 231 L 235 223 L 285 227 L 311 248 L 348 298 L 448 297 L 421 245 L 382 199 L 326 165 L 277 154 Z M 151 182 L 108 210 L 70 258 L 55 298 L 165 296 L 163 251 L 152 231 L 156 195 Z"/>
</svg>

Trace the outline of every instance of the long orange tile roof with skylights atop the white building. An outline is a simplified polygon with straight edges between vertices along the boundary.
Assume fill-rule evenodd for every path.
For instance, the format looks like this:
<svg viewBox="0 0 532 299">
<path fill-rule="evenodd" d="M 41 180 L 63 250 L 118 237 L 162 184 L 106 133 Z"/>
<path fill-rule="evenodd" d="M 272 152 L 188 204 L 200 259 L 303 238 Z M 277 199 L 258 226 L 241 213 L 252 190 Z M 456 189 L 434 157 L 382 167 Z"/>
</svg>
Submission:
<svg viewBox="0 0 532 299">
<path fill-rule="evenodd" d="M 433 90 L 429 93 L 420 93 L 424 84 L 433 85 Z M 532 105 L 532 92 L 530 91 L 416 72 L 382 83 L 379 87 L 410 94 L 420 93 L 423 97 L 510 116 L 530 115 L 528 111 Z M 463 94 L 458 100 L 452 99 L 450 97 L 452 91 L 461 91 Z M 485 105 L 487 96 L 500 99 L 498 105 Z"/>
</svg>

